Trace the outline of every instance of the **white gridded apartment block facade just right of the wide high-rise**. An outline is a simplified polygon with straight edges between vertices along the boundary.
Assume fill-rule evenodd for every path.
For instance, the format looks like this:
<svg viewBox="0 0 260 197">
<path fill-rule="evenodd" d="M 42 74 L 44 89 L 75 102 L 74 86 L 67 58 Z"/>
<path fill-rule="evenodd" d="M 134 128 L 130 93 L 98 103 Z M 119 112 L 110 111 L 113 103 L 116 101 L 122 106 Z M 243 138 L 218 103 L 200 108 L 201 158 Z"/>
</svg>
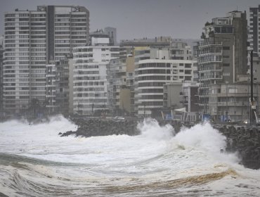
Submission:
<svg viewBox="0 0 260 197">
<path fill-rule="evenodd" d="M 119 57 L 118 46 L 80 46 L 73 49 L 73 112 L 93 115 L 108 110 L 107 65 Z"/>
</svg>

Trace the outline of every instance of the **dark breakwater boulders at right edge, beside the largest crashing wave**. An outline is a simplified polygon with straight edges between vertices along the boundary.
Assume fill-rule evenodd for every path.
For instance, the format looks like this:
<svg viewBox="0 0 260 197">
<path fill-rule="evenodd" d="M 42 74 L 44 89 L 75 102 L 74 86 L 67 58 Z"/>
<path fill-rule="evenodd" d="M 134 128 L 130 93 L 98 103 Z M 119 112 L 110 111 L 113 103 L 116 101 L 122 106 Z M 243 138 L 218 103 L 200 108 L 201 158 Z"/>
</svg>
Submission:
<svg viewBox="0 0 260 197">
<path fill-rule="evenodd" d="M 245 167 L 260 169 L 260 127 L 214 125 L 226 136 L 226 151 L 237 152 Z"/>
</svg>

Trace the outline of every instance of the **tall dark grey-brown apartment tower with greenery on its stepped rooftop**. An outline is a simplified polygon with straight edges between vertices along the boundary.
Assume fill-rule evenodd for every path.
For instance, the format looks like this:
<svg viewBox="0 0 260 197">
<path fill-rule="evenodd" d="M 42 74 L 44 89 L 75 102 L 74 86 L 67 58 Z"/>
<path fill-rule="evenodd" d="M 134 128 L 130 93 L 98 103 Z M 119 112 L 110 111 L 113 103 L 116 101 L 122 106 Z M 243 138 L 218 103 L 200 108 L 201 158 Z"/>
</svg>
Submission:
<svg viewBox="0 0 260 197">
<path fill-rule="evenodd" d="M 209 112 L 212 84 L 233 84 L 247 73 L 246 13 L 233 11 L 206 23 L 197 44 L 200 112 Z"/>
</svg>

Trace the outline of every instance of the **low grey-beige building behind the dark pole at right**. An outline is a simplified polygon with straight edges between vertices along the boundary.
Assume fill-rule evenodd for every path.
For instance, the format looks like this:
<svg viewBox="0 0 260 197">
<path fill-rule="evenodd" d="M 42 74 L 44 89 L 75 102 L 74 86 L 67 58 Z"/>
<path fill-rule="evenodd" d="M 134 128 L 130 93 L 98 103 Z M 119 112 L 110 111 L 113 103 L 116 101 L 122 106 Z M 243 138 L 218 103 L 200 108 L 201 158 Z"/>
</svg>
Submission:
<svg viewBox="0 0 260 197">
<path fill-rule="evenodd" d="M 253 90 L 256 114 L 259 116 L 259 83 L 254 83 Z M 247 82 L 212 85 L 211 89 L 209 89 L 209 115 L 216 121 L 228 119 L 232 121 L 249 120 L 250 92 L 250 84 Z"/>
</svg>

